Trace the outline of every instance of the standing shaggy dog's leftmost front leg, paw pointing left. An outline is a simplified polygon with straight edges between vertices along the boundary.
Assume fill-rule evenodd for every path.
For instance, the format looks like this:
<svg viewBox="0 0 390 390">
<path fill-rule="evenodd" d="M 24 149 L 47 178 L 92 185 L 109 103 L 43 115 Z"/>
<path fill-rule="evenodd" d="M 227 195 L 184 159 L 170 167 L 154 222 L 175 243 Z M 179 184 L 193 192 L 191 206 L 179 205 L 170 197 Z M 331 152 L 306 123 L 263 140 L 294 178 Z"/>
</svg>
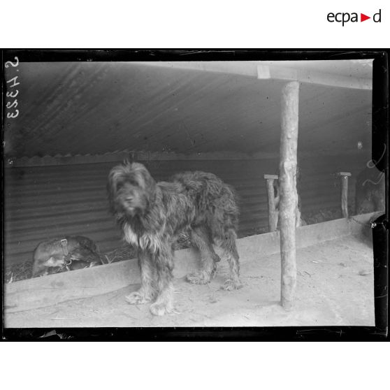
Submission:
<svg viewBox="0 0 390 390">
<path fill-rule="evenodd" d="M 131 305 L 142 305 L 150 302 L 157 295 L 152 255 L 147 251 L 140 251 L 138 253 L 138 265 L 140 267 L 141 287 L 138 291 L 134 291 L 125 297 Z"/>
</svg>

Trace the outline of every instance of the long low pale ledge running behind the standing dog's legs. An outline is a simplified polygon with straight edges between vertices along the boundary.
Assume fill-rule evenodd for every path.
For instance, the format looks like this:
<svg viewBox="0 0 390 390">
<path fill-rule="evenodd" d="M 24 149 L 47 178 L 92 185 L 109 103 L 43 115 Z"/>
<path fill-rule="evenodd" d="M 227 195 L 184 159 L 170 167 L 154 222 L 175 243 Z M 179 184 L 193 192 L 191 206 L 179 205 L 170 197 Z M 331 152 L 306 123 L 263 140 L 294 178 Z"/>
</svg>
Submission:
<svg viewBox="0 0 390 390">
<path fill-rule="evenodd" d="M 373 214 L 358 215 L 353 219 L 335 219 L 301 226 L 296 230 L 296 247 L 307 247 L 359 233 Z M 254 261 L 280 251 L 280 232 L 259 234 L 238 240 L 240 261 Z M 192 249 L 175 252 L 175 277 L 184 277 L 198 266 L 198 253 Z M 140 282 L 136 259 L 120 261 L 68 273 L 58 273 L 5 285 L 4 308 L 18 312 L 55 305 L 71 299 L 106 294 Z"/>
</svg>

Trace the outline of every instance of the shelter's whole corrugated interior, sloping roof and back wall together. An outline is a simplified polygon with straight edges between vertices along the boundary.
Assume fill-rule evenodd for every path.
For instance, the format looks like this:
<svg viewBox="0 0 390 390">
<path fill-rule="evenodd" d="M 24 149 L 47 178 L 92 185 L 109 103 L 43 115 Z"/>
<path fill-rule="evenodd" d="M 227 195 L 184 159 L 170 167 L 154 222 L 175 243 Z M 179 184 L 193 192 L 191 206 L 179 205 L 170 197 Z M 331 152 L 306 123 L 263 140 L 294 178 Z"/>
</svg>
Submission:
<svg viewBox="0 0 390 390">
<path fill-rule="evenodd" d="M 4 133 L 6 265 L 64 235 L 88 236 L 102 252 L 122 245 L 106 179 L 124 158 L 156 180 L 215 173 L 238 192 L 239 236 L 268 231 L 263 175 L 278 171 L 286 74 L 307 81 L 299 95 L 303 219 L 341 217 L 340 171 L 352 173 L 354 212 L 354 180 L 371 156 L 372 60 L 20 62 L 18 70 L 20 115 Z"/>
</svg>

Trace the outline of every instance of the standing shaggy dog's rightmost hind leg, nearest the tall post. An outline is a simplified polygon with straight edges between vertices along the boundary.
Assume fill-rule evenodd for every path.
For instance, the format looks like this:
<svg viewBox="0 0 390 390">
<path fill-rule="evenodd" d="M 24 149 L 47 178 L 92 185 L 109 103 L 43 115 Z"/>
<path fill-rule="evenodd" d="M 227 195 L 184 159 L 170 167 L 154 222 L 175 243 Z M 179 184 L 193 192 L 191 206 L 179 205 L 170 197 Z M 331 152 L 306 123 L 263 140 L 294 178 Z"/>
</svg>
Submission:
<svg viewBox="0 0 390 390">
<path fill-rule="evenodd" d="M 224 250 L 224 257 L 227 258 L 230 267 L 230 277 L 222 285 L 224 290 L 240 289 L 243 284 L 240 282 L 240 263 L 236 245 L 236 232 L 233 229 L 225 231 L 221 247 Z"/>
</svg>

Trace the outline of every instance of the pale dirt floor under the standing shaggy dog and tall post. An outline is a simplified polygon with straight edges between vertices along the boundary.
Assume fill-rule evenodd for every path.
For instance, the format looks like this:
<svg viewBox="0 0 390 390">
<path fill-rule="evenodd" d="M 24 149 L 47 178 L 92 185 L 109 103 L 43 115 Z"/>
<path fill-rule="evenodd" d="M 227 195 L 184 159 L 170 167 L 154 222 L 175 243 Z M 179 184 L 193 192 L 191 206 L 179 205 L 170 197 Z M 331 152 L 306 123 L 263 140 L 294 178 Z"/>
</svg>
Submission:
<svg viewBox="0 0 390 390">
<path fill-rule="evenodd" d="M 243 289 L 219 289 L 227 264 L 219 263 L 208 285 L 175 280 L 175 312 L 150 314 L 148 305 L 129 305 L 131 285 L 110 294 L 48 308 L 6 313 L 6 327 L 73 326 L 373 326 L 373 252 L 368 243 L 347 236 L 297 251 L 296 302 L 280 306 L 280 254 L 241 265 Z"/>
</svg>

